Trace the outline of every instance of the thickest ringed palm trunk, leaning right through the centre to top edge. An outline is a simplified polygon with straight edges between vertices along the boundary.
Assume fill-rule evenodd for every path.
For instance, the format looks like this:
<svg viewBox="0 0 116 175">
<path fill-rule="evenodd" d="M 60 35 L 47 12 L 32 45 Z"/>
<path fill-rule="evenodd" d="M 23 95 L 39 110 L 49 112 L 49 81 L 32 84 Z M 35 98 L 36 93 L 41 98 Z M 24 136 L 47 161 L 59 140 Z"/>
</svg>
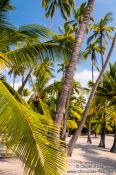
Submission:
<svg viewBox="0 0 116 175">
<path fill-rule="evenodd" d="M 59 102 L 56 110 L 56 117 L 55 117 L 55 126 L 60 130 L 60 125 L 63 119 L 63 114 L 64 114 L 64 109 L 66 106 L 66 100 L 68 97 L 68 92 L 71 87 L 72 81 L 73 81 L 73 76 L 74 76 L 74 71 L 76 68 L 76 63 L 77 63 L 77 58 L 80 53 L 81 45 L 84 39 L 84 35 L 87 29 L 87 25 L 91 16 L 91 12 L 93 9 L 95 0 L 89 0 L 87 9 L 84 15 L 83 22 L 80 24 L 80 28 L 78 31 L 78 34 L 76 35 L 76 43 L 74 46 L 74 49 L 72 51 L 70 63 L 67 69 L 67 73 L 64 78 L 63 86 L 60 92 L 60 97 L 59 97 Z"/>
</svg>

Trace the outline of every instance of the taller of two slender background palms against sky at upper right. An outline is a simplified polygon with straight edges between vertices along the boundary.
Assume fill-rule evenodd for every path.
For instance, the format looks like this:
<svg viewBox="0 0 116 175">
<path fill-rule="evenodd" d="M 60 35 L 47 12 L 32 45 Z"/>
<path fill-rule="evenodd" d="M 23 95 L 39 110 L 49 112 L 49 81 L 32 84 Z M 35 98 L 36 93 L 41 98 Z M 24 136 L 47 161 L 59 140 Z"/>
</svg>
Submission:
<svg viewBox="0 0 116 175">
<path fill-rule="evenodd" d="M 105 48 L 107 44 L 107 38 L 112 39 L 111 32 L 115 30 L 114 27 L 108 26 L 108 23 L 112 20 L 112 13 L 107 13 L 99 23 L 91 24 L 89 27 L 93 30 L 93 34 L 89 37 L 88 43 L 97 38 L 101 47 L 101 63 L 104 63 L 104 52 L 102 48 Z"/>
</svg>

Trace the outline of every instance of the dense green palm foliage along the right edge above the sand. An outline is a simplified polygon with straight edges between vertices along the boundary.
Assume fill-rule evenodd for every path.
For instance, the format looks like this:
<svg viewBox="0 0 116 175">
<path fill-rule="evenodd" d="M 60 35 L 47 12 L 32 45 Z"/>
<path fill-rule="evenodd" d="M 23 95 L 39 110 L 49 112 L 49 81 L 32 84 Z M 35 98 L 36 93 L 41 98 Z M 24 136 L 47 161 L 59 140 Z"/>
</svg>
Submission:
<svg viewBox="0 0 116 175">
<path fill-rule="evenodd" d="M 106 129 L 110 132 L 113 131 L 113 126 L 116 121 L 116 63 L 109 64 L 110 70 L 106 71 L 103 80 L 97 88 L 95 95 L 96 114 L 92 119 L 93 130 L 99 133 L 103 125 L 105 114 L 106 116 Z"/>
</svg>

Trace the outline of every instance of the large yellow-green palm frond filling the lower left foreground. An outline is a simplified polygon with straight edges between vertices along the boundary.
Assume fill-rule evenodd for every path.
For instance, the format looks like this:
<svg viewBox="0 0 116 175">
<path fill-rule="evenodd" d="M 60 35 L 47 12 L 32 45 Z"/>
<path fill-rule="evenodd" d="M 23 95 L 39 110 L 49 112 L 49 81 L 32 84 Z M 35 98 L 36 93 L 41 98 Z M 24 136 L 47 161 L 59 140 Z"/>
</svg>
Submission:
<svg viewBox="0 0 116 175">
<path fill-rule="evenodd" d="M 18 102 L 0 81 L 0 127 L 7 146 L 21 161 L 26 174 L 60 175 L 65 170 L 64 148 L 53 139 L 50 118 Z M 51 134 L 50 134 L 51 133 Z"/>
</svg>

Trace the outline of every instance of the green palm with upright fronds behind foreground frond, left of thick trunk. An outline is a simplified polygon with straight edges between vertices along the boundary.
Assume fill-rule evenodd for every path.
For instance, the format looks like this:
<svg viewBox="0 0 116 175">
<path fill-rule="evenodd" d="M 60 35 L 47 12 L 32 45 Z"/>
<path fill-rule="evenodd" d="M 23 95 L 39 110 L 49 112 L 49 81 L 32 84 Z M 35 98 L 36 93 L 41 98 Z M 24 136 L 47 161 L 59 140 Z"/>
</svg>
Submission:
<svg viewBox="0 0 116 175">
<path fill-rule="evenodd" d="M 35 67 L 33 71 L 33 76 L 35 81 L 32 80 L 32 91 L 28 103 L 35 112 L 46 113 L 44 107 L 47 109 L 47 104 L 45 104 L 45 99 L 47 98 L 46 88 L 49 80 L 53 78 L 53 63 L 46 58 L 42 64 Z M 44 107 L 43 107 L 44 105 Z M 48 114 L 49 114 L 49 110 Z"/>
</svg>

